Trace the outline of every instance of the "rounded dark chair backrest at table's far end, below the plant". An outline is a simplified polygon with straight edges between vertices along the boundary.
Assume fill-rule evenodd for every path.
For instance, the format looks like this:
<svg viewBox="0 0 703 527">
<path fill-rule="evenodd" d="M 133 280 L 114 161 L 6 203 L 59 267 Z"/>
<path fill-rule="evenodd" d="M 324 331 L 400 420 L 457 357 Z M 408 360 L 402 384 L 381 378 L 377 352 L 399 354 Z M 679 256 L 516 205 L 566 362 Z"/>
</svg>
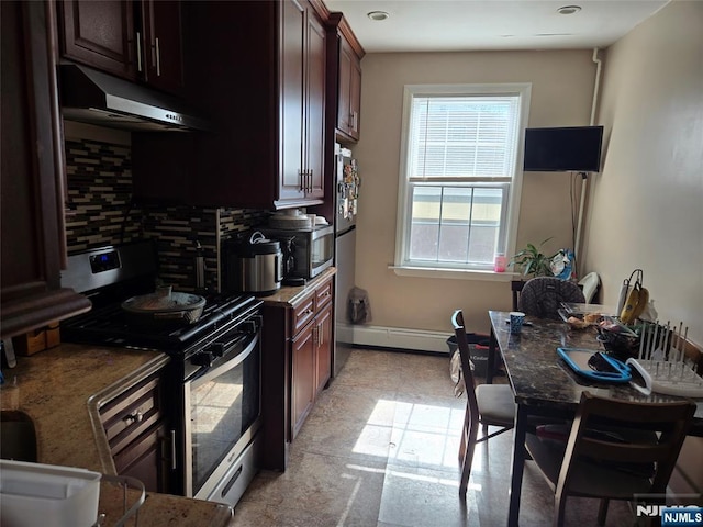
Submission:
<svg viewBox="0 0 703 527">
<path fill-rule="evenodd" d="M 557 310 L 561 302 L 584 303 L 581 289 L 556 277 L 536 277 L 525 282 L 520 293 L 520 311 L 539 318 L 561 319 Z"/>
</svg>

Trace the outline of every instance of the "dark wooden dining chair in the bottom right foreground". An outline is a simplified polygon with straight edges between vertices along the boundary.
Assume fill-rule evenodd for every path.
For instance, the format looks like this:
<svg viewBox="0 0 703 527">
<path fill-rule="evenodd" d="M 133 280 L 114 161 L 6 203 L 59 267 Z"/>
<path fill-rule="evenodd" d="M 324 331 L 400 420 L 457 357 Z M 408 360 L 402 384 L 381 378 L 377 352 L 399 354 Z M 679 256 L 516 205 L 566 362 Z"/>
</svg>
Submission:
<svg viewBox="0 0 703 527">
<path fill-rule="evenodd" d="M 694 413 L 689 401 L 637 403 L 583 392 L 563 440 L 527 434 L 527 451 L 555 493 L 554 525 L 563 525 L 567 496 L 600 498 L 603 525 L 610 500 L 666 493 Z"/>
</svg>

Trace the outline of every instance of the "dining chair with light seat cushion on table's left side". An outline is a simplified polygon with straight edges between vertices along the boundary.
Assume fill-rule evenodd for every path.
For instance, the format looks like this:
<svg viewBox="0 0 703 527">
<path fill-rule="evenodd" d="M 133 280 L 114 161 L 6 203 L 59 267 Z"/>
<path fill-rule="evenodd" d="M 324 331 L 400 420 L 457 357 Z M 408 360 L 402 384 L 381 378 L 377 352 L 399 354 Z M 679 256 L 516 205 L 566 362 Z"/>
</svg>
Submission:
<svg viewBox="0 0 703 527">
<path fill-rule="evenodd" d="M 469 476 L 471 475 L 471 462 L 473 461 L 476 444 L 486 441 L 513 428 L 515 422 L 515 397 L 509 384 L 476 385 L 461 310 L 454 312 L 451 324 L 461 358 L 461 374 L 467 395 L 461 445 L 459 446 L 459 463 L 461 466 L 459 495 L 465 497 L 469 485 Z M 479 424 L 483 427 L 480 438 L 478 437 Z M 499 429 L 489 434 L 489 426 L 496 426 Z"/>
</svg>

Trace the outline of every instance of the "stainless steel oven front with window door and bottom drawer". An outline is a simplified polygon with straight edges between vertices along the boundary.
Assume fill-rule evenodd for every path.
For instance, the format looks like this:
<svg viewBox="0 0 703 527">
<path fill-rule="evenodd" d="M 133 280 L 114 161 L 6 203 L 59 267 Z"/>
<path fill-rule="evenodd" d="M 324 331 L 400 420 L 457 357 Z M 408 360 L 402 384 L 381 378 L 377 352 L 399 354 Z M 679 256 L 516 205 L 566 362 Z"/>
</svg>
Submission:
<svg viewBox="0 0 703 527">
<path fill-rule="evenodd" d="M 186 495 L 234 505 L 256 474 L 260 362 L 258 316 L 186 362 Z"/>
</svg>

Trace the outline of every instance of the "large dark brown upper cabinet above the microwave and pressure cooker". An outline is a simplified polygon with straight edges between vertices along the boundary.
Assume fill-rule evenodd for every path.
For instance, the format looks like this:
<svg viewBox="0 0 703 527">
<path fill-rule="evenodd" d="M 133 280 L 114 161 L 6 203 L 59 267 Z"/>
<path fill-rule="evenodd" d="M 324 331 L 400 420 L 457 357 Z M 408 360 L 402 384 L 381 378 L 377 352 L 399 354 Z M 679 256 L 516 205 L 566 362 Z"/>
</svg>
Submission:
<svg viewBox="0 0 703 527">
<path fill-rule="evenodd" d="M 323 203 L 327 31 L 320 5 L 183 4 L 186 69 L 198 80 L 188 82 L 187 98 L 215 124 L 190 145 L 140 135 L 137 200 L 266 210 Z"/>
</svg>

